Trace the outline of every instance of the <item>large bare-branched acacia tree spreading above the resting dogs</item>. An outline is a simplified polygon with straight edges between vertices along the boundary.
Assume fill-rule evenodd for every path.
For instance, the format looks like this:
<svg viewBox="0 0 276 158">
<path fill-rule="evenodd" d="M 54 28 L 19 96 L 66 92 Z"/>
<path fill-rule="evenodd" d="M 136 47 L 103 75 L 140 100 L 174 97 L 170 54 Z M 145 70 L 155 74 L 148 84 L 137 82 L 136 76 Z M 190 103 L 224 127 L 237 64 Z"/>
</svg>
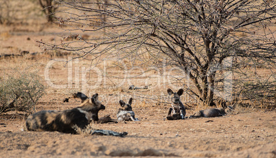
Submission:
<svg viewBox="0 0 276 158">
<path fill-rule="evenodd" d="M 55 48 L 78 52 L 80 58 L 93 56 L 92 60 L 135 56 L 134 63 L 157 67 L 166 58 L 165 66 L 179 67 L 194 84 L 189 90 L 205 104 L 214 104 L 214 87 L 222 81 L 218 70 L 223 71 L 217 68 L 226 58 L 232 60 L 231 67 L 226 67 L 231 71 L 242 71 L 246 62 L 275 69 L 273 0 L 71 1 L 62 5 L 78 14 L 65 10 L 69 16 L 60 19 L 60 25 L 83 32 L 105 30 L 105 36 L 78 41 L 84 43 L 82 47 L 71 42 Z M 95 8 L 99 5 L 104 9 Z"/>
</svg>

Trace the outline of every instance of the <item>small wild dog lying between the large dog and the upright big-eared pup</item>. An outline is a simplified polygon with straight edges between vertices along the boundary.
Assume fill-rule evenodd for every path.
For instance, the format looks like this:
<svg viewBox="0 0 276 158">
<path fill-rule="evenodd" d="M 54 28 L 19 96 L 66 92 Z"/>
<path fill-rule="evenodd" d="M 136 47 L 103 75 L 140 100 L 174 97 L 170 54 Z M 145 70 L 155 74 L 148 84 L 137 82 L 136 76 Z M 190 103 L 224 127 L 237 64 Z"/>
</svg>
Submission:
<svg viewBox="0 0 276 158">
<path fill-rule="evenodd" d="M 128 104 L 126 104 L 123 100 L 119 100 L 119 104 L 122 106 L 123 109 L 119 109 L 117 113 L 117 120 L 118 121 L 138 121 L 135 118 L 135 113 L 133 112 L 133 108 L 131 104 L 133 103 L 133 98 L 128 100 Z"/>
</svg>

